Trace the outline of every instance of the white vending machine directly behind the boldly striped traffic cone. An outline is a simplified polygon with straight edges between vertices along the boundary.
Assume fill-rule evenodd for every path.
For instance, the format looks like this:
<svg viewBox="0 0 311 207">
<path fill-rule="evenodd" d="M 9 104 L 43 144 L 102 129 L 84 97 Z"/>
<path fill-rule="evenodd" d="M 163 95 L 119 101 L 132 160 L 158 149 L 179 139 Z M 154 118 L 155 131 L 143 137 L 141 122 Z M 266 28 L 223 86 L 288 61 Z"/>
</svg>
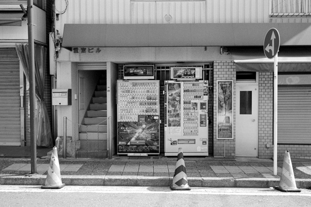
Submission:
<svg viewBox="0 0 311 207">
<path fill-rule="evenodd" d="M 202 68 L 171 68 L 165 82 L 165 155 L 208 156 L 208 81 Z"/>
</svg>

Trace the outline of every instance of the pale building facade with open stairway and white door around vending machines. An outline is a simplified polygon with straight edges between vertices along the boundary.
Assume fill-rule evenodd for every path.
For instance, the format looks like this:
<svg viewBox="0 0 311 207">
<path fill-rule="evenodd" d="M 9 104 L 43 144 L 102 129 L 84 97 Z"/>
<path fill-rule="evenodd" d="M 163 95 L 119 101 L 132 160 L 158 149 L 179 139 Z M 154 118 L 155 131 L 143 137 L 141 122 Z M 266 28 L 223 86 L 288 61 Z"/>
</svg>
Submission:
<svg viewBox="0 0 311 207">
<path fill-rule="evenodd" d="M 152 65 L 160 82 L 160 153 L 170 69 L 201 67 L 210 156 L 273 157 L 277 95 L 278 156 L 290 150 L 310 158 L 310 0 L 55 0 L 53 19 L 54 91 L 71 89 L 71 104 L 54 106 L 56 142 L 61 148 L 66 117 L 68 156 L 117 153 L 117 80 L 126 65 Z M 271 28 L 280 35 L 278 94 L 273 59 L 263 52 Z M 232 83 L 229 102 L 221 101 L 222 82 Z M 230 108 L 229 124 L 222 107 Z"/>
</svg>

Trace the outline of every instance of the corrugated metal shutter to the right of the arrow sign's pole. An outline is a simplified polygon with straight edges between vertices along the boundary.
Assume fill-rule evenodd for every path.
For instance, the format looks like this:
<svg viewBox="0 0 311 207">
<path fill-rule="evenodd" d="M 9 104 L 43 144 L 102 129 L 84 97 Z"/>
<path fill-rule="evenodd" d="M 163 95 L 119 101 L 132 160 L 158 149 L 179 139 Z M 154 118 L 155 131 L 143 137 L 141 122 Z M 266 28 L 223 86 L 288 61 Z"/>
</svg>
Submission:
<svg viewBox="0 0 311 207">
<path fill-rule="evenodd" d="M 311 144 L 311 86 L 278 87 L 277 142 Z"/>
</svg>

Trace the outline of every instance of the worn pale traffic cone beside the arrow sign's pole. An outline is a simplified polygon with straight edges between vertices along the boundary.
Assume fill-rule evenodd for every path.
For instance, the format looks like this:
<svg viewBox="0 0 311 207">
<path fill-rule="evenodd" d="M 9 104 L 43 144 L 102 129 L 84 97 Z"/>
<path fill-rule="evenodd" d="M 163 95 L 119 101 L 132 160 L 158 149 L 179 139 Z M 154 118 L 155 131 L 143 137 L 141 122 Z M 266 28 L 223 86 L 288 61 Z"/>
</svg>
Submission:
<svg viewBox="0 0 311 207">
<path fill-rule="evenodd" d="M 282 192 L 300 192 L 301 189 L 297 189 L 295 176 L 289 151 L 285 151 L 282 175 L 279 186 L 275 187 L 276 190 Z"/>
</svg>

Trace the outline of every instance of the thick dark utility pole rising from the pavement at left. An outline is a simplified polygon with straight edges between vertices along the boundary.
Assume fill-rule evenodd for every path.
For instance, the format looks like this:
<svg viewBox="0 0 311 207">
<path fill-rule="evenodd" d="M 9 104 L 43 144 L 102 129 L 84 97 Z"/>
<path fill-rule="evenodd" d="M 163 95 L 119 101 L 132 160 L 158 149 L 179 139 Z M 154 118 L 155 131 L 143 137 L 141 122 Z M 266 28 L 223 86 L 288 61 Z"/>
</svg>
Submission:
<svg viewBox="0 0 311 207">
<path fill-rule="evenodd" d="M 33 0 L 27 0 L 28 55 L 29 55 L 29 97 L 30 97 L 30 145 L 31 173 L 37 173 L 37 152 L 35 137 L 35 42 L 33 37 Z"/>
</svg>

